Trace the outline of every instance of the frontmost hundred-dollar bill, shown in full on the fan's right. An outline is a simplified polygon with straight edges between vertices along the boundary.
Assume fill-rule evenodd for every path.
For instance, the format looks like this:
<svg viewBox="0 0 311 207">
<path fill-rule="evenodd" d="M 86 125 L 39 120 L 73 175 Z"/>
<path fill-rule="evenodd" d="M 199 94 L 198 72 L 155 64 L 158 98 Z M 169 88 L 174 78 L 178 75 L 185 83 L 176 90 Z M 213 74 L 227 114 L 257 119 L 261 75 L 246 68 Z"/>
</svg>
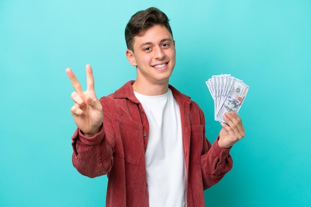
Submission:
<svg viewBox="0 0 311 207">
<path fill-rule="evenodd" d="M 223 115 L 227 112 L 234 111 L 238 113 L 243 101 L 247 95 L 249 87 L 238 79 L 233 79 L 233 83 L 228 88 L 228 94 L 225 95 L 226 99 L 220 104 L 215 111 L 215 120 L 225 122 Z"/>
</svg>

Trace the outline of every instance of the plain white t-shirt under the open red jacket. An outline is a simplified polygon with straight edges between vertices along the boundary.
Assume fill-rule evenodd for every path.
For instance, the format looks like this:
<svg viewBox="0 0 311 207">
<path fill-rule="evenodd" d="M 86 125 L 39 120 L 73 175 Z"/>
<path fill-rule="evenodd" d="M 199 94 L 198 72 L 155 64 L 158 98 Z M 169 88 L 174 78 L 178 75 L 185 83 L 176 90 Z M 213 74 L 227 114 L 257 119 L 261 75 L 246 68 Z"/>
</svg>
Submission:
<svg viewBox="0 0 311 207">
<path fill-rule="evenodd" d="M 186 165 L 179 105 L 168 89 L 160 96 L 134 92 L 149 122 L 146 170 L 150 207 L 186 207 Z"/>
</svg>

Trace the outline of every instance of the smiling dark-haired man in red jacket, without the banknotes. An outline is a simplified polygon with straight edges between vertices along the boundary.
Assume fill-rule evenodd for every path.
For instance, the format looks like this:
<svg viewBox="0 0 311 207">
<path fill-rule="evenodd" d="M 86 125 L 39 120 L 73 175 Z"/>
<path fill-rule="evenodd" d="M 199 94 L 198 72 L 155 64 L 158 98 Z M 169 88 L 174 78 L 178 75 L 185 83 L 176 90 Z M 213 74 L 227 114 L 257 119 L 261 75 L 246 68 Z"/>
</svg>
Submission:
<svg viewBox="0 0 311 207">
<path fill-rule="evenodd" d="M 137 78 L 115 93 L 97 100 L 90 65 L 86 91 L 66 69 L 76 90 L 73 164 L 89 177 L 107 174 L 107 207 L 204 207 L 203 191 L 232 168 L 241 119 L 227 113 L 213 146 L 205 138 L 203 111 L 168 84 L 176 51 L 163 12 L 134 14 L 125 39 Z"/>
</svg>

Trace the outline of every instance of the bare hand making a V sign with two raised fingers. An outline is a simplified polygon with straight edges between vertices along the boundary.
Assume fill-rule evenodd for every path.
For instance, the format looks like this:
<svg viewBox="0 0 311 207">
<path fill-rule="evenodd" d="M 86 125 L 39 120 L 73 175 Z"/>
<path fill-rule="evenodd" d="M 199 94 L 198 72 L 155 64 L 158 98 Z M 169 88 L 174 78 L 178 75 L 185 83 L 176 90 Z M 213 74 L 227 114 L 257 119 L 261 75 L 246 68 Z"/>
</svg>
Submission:
<svg viewBox="0 0 311 207">
<path fill-rule="evenodd" d="M 94 91 L 94 77 L 90 65 L 86 65 L 86 83 L 87 89 L 83 91 L 74 72 L 66 69 L 66 73 L 76 90 L 71 95 L 74 106 L 71 107 L 71 113 L 78 128 L 87 137 L 92 137 L 100 131 L 103 121 L 102 106 Z"/>
</svg>

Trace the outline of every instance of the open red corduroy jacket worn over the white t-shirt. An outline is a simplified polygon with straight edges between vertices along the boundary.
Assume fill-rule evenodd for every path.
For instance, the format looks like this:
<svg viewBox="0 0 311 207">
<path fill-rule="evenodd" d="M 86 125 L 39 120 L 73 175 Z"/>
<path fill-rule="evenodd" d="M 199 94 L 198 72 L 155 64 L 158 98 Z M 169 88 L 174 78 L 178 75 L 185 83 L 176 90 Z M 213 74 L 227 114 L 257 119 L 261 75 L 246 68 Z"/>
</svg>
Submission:
<svg viewBox="0 0 311 207">
<path fill-rule="evenodd" d="M 149 124 L 144 108 L 127 82 L 102 97 L 103 127 L 93 137 L 73 135 L 73 164 L 85 176 L 108 176 L 106 207 L 148 207 L 145 152 Z M 205 207 L 203 191 L 232 169 L 230 149 L 205 138 L 205 118 L 195 102 L 169 86 L 179 104 L 187 168 L 187 207 Z M 167 172 L 169 173 L 169 172 Z M 161 182 L 161 181 L 159 181 Z"/>
</svg>

